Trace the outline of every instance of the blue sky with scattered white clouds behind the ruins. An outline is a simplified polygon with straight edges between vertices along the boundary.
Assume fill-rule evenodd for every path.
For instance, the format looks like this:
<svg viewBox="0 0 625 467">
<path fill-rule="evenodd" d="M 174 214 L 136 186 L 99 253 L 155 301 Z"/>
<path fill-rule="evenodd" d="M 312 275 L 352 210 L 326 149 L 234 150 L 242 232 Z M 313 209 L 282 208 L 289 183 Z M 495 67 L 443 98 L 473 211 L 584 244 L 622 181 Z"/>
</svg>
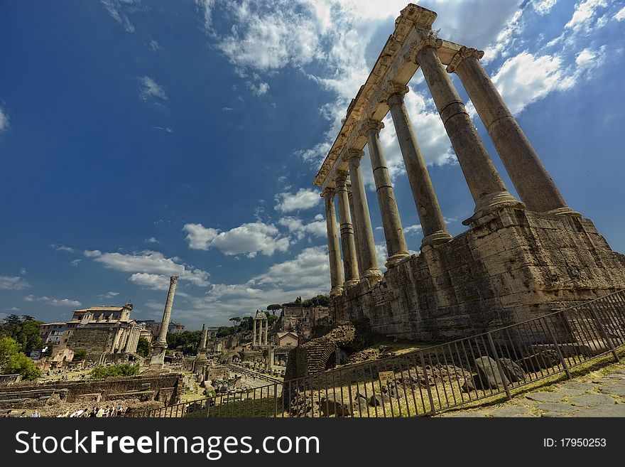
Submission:
<svg viewBox="0 0 625 467">
<path fill-rule="evenodd" d="M 440 37 L 486 51 L 485 67 L 569 205 L 624 252 L 625 2 L 419 4 L 437 11 Z M 189 328 L 327 292 L 312 179 L 404 6 L 5 2 L 0 314 L 56 321 L 131 300 L 135 318 L 159 319 L 172 274 L 180 276 L 173 319 Z M 420 71 L 410 86 L 415 134 L 455 235 L 472 199 Z M 385 122 L 381 139 L 417 250 L 418 218 Z"/>
</svg>

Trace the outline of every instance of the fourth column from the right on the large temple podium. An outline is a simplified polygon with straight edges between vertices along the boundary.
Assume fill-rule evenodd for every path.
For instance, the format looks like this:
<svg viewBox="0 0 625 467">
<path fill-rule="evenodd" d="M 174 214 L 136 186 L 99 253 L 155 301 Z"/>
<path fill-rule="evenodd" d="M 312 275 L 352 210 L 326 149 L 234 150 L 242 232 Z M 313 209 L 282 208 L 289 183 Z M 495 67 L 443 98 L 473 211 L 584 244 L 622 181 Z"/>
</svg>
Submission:
<svg viewBox="0 0 625 467">
<path fill-rule="evenodd" d="M 371 157 L 371 168 L 374 171 L 382 227 L 384 227 L 384 237 L 386 237 L 388 258 L 385 266 L 390 269 L 408 256 L 408 247 L 406 246 L 406 238 L 403 236 L 395 193 L 391 185 L 391 176 L 388 175 L 386 159 L 384 159 L 384 153 L 382 152 L 382 144 L 380 142 L 380 130 L 382 128 L 384 128 L 382 122 L 368 120 L 362 128 L 362 133 L 366 136 L 366 144 L 369 146 L 369 156 Z"/>
</svg>

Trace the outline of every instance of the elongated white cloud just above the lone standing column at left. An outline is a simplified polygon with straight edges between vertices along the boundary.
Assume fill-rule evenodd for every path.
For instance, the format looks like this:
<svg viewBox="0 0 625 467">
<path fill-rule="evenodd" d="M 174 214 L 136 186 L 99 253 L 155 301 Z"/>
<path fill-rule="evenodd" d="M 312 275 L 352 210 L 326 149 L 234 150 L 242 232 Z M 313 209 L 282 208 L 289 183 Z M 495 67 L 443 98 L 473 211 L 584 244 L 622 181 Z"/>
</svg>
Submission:
<svg viewBox="0 0 625 467">
<path fill-rule="evenodd" d="M 207 286 L 209 274 L 180 262 L 179 258 L 167 258 L 161 252 L 145 250 L 134 254 L 102 253 L 99 250 L 86 251 L 86 257 L 94 258 L 109 269 L 121 272 L 145 273 L 161 275 L 169 280 L 170 276 L 178 276 L 182 281 L 189 281 L 196 286 Z M 132 278 L 132 276 L 131 276 Z M 131 281 L 136 281 L 131 279 Z"/>
</svg>

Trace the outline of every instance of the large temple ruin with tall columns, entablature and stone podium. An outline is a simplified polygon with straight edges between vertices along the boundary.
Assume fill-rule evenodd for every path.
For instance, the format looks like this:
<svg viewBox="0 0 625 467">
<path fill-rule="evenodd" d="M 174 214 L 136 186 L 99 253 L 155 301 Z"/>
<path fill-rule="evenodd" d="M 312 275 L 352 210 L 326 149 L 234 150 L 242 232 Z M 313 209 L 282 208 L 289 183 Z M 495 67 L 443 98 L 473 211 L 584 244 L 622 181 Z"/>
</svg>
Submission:
<svg viewBox="0 0 625 467">
<path fill-rule="evenodd" d="M 482 67 L 484 53 L 438 37 L 436 16 L 414 4 L 401 11 L 315 178 L 325 198 L 335 321 L 368 321 L 384 336 L 449 340 L 625 289 L 625 256 L 567 205 Z M 474 199 L 462 222 L 469 228 L 455 237 L 403 103 L 418 68 Z M 506 189 L 450 73 L 460 77 L 520 199 Z M 420 254 L 408 252 L 380 143 L 389 111 L 423 227 Z M 384 274 L 363 183 L 364 146 L 386 238 Z"/>
</svg>

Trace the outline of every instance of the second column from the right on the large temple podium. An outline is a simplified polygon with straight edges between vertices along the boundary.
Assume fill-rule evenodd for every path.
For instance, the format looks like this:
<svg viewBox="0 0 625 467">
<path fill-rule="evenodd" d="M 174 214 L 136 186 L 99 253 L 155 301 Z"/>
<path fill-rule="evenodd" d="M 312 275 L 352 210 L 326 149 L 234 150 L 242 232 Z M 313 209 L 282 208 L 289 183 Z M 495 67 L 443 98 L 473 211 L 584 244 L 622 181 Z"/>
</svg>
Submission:
<svg viewBox="0 0 625 467">
<path fill-rule="evenodd" d="M 445 125 L 464 178 L 475 201 L 475 215 L 463 223 L 494 212 L 506 206 L 522 207 L 522 203 L 508 193 L 497 173 L 482 140 L 477 134 L 467 110 L 455 90 L 450 77 L 442 68 L 436 53 L 440 39 L 424 38 L 418 45 L 416 63 L 420 65 L 430 92 Z"/>
</svg>

